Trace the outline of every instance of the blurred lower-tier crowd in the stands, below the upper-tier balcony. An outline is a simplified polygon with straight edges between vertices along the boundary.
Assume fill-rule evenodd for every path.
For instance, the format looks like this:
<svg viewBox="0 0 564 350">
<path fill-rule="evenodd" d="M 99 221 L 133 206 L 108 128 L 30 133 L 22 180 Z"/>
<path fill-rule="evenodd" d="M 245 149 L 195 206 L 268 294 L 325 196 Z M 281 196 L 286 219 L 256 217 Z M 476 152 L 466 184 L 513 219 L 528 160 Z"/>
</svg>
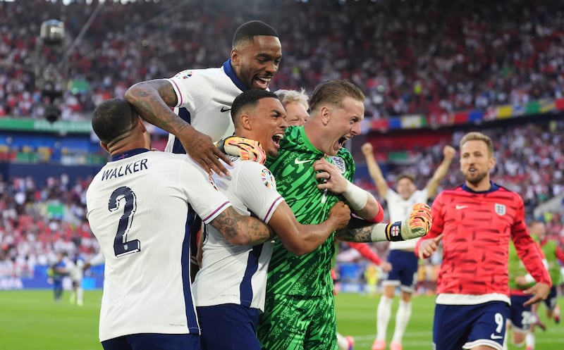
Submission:
<svg viewBox="0 0 564 350">
<path fill-rule="evenodd" d="M 539 204 L 564 194 L 563 121 L 510 130 L 496 128 L 486 133 L 496 140 L 498 149 L 494 181 L 521 194 L 528 218 L 534 217 L 534 208 Z M 453 135 L 454 146 L 459 137 Z M 418 174 L 417 185 L 424 187 L 441 161 L 441 149 L 429 147 L 415 155 L 412 165 L 393 166 L 387 174 L 390 183 L 398 173 L 407 171 Z M 441 188 L 463 182 L 458 166 L 458 161 L 452 163 Z M 359 178 L 357 183 L 376 194 L 372 180 Z M 30 273 L 33 265 L 44 265 L 53 258 L 54 251 L 80 253 L 87 258 L 97 253 L 97 242 L 85 219 L 88 184 L 86 179 L 69 183 L 65 175 L 50 177 L 42 188 L 32 177 L 0 182 L 0 275 Z M 564 244 L 564 216 L 547 213 L 541 220 L 546 221 L 548 235 Z M 385 245 L 374 244 L 374 249 L 386 254 Z"/>
</svg>

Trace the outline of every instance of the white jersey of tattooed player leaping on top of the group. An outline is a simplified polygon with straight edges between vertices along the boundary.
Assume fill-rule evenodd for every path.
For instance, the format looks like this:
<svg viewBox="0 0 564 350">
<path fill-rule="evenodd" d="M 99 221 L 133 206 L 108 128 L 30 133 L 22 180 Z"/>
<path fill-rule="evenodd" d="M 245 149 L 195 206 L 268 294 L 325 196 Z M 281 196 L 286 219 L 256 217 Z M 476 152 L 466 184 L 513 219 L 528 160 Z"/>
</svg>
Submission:
<svg viewBox="0 0 564 350">
<path fill-rule="evenodd" d="M 233 72 L 231 60 L 220 68 L 183 70 L 168 81 L 176 92 L 178 104 L 174 112 L 180 118 L 212 137 L 213 142 L 233 135 L 235 129 L 231 120 L 231 104 L 247 88 Z M 189 115 L 180 112 L 180 107 L 186 108 Z M 180 153 L 179 146 L 176 137 L 168 135 L 165 151 Z"/>
</svg>

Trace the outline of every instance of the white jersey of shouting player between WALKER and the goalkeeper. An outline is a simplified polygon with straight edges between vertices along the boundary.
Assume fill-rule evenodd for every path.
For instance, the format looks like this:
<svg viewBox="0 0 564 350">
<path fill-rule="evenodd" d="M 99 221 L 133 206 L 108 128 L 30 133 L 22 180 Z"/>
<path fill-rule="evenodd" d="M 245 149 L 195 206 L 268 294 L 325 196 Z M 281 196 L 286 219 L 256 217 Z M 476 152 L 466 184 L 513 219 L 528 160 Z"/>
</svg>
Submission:
<svg viewBox="0 0 564 350">
<path fill-rule="evenodd" d="M 270 171 L 254 161 L 233 161 L 231 178 L 214 175 L 214 182 L 242 215 L 268 223 L 284 199 Z M 230 244 L 211 225 L 204 236 L 202 268 L 193 284 L 196 306 L 240 304 L 264 311 L 266 273 L 272 243 Z"/>
</svg>

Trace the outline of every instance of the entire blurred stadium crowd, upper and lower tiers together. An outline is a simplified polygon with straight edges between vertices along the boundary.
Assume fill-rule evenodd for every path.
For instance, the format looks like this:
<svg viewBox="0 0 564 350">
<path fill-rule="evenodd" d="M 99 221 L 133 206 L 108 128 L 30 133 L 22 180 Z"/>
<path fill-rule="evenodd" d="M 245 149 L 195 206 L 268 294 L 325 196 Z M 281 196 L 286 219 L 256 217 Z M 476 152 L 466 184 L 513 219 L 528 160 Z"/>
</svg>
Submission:
<svg viewBox="0 0 564 350">
<path fill-rule="evenodd" d="M 62 118 L 84 118 L 135 82 L 221 65 L 233 29 L 247 18 L 261 18 L 281 37 L 283 63 L 271 89 L 305 87 L 310 92 L 322 80 L 347 78 L 367 94 L 367 117 L 563 96 L 564 17 L 553 0 L 496 6 L 486 1 L 402 1 L 394 6 L 334 1 L 326 6 L 324 0 L 273 0 L 247 1 L 245 8 L 238 1 L 219 0 L 174 0 L 166 6 L 107 1 L 97 15 L 95 1 L 90 6 L 83 2 L 0 1 L 0 116 L 42 118 L 44 98 L 35 86 L 38 61 L 44 60 L 44 67 L 68 58 Z M 51 18 L 66 25 L 62 48 L 38 45 L 39 27 Z M 503 158 L 494 180 L 522 195 L 529 217 L 539 204 L 564 194 L 562 121 L 489 133 L 496 156 Z M 453 135 L 453 145 L 459 138 Z M 411 165 L 393 167 L 390 182 L 408 170 L 418 175 L 421 187 L 441 161 L 441 148 L 424 149 L 414 154 Z M 442 188 L 462 182 L 457 162 L 451 170 Z M 46 264 L 54 251 L 97 252 L 85 220 L 87 185 L 87 180 L 69 184 L 65 177 L 51 178 L 42 188 L 31 177 L 0 182 L 0 275 L 32 273 L 33 265 Z M 368 179 L 360 185 L 374 189 Z M 56 206 L 63 209 L 49 215 Z M 548 233 L 564 244 L 562 216 L 547 215 L 546 221 Z"/>
</svg>

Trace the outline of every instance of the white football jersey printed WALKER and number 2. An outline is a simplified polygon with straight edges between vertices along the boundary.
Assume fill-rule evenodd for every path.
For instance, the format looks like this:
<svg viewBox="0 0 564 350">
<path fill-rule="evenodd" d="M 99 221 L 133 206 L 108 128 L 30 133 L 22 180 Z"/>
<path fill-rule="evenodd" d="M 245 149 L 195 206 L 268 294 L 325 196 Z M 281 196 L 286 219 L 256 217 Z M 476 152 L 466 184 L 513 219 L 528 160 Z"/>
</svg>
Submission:
<svg viewBox="0 0 564 350">
<path fill-rule="evenodd" d="M 205 223 L 231 206 L 191 158 L 135 149 L 87 189 L 87 219 L 106 266 L 100 341 L 136 333 L 199 334 L 190 286 L 192 207 Z"/>
</svg>

